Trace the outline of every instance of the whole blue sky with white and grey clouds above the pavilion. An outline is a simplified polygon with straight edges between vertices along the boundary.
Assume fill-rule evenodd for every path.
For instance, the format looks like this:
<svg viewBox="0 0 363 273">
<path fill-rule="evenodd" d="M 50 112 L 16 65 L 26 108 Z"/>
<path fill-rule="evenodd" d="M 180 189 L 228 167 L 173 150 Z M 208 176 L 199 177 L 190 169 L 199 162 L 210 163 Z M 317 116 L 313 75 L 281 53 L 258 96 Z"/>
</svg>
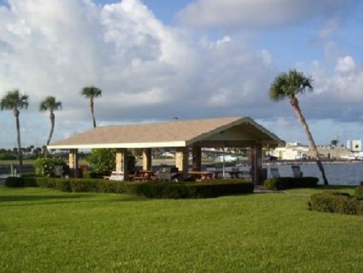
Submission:
<svg viewBox="0 0 363 273">
<path fill-rule="evenodd" d="M 48 95 L 62 102 L 52 141 L 92 129 L 84 86 L 97 86 L 97 126 L 249 116 L 286 142 L 308 144 L 270 84 L 297 69 L 317 144 L 363 137 L 363 1 L 0 0 L 0 97 L 29 95 L 21 145 L 41 147 Z M 12 111 L 0 147 L 16 147 Z"/>
</svg>

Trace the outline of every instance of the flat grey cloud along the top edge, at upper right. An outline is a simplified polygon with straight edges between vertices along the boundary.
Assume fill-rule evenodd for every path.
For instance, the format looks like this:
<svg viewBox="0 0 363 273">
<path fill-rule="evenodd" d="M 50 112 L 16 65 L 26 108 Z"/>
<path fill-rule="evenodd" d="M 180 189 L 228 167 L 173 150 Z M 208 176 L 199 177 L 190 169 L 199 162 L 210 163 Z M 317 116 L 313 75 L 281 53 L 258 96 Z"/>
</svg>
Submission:
<svg viewBox="0 0 363 273">
<path fill-rule="evenodd" d="M 182 10 L 179 17 L 194 27 L 270 29 L 331 17 L 359 3 L 358 0 L 198 0 Z"/>
</svg>

